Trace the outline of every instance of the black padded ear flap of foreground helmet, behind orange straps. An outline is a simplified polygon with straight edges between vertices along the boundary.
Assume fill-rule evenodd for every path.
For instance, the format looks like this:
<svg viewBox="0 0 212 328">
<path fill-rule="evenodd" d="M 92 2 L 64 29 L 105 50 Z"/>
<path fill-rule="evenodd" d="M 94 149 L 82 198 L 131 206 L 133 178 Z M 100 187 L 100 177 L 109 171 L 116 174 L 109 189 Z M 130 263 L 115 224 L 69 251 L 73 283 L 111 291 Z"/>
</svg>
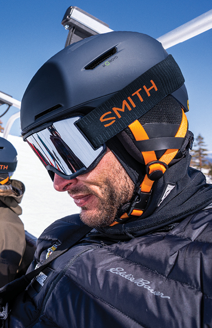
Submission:
<svg viewBox="0 0 212 328">
<path fill-rule="evenodd" d="M 140 117 L 138 121 L 143 126 L 149 139 L 175 137 L 182 121 L 182 108 L 173 96 L 168 95 L 151 108 L 150 111 Z M 169 166 L 186 155 L 192 138 L 193 134 L 187 131 L 181 149 L 179 149 L 174 159 L 169 163 Z M 145 176 L 145 161 L 142 152 L 136 147 L 133 141 L 135 141 L 135 137 L 130 128 L 126 127 L 122 132 L 110 139 L 107 145 L 136 184 L 137 181 Z M 161 158 L 166 150 L 155 150 L 157 160 Z"/>
</svg>

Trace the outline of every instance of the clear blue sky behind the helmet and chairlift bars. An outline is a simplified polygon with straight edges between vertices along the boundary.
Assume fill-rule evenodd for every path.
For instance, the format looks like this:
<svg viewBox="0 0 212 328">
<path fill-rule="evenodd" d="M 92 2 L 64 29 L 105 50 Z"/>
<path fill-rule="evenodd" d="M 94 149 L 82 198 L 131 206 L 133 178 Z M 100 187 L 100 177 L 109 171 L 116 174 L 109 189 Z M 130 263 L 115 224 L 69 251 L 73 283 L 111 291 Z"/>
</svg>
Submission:
<svg viewBox="0 0 212 328">
<path fill-rule="evenodd" d="M 70 6 L 77 6 L 109 24 L 113 30 L 137 31 L 157 38 L 212 9 L 211 0 L 37 0 L 4 1 L 0 5 L 0 91 L 21 100 L 36 71 L 60 51 L 68 32 L 61 25 Z M 173 55 L 185 77 L 190 111 L 189 128 L 204 137 L 212 151 L 212 29 L 167 51 Z M 6 106 L 0 107 L 0 115 Z M 1 120 L 3 126 L 17 112 L 11 107 Z M 20 135 L 17 120 L 11 134 Z"/>
</svg>

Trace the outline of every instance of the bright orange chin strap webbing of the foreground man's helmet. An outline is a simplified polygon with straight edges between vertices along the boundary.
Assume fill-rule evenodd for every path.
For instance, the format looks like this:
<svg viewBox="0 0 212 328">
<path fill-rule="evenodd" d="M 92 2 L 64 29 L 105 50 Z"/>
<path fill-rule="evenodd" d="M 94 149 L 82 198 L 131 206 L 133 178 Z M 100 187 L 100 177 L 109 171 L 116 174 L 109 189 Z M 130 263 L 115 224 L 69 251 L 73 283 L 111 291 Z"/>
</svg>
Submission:
<svg viewBox="0 0 212 328">
<path fill-rule="evenodd" d="M 185 116 L 183 109 L 182 109 L 182 113 L 183 113 L 182 121 L 181 121 L 180 127 L 175 135 L 176 138 L 184 138 L 186 135 L 186 132 L 187 132 L 187 128 L 188 128 L 188 121 L 187 121 L 187 118 Z M 136 141 L 149 139 L 146 131 L 144 130 L 144 128 L 142 127 L 142 125 L 139 123 L 138 120 L 131 123 L 129 125 L 129 128 L 130 128 L 131 132 L 133 133 Z M 153 151 L 141 151 L 144 161 L 145 161 L 146 168 L 148 170 L 148 174 L 145 175 L 145 177 L 139 187 L 138 193 L 141 192 L 142 195 L 144 195 L 144 197 L 146 194 L 146 199 L 148 199 L 148 197 L 151 194 L 152 185 L 153 185 L 154 181 L 158 179 L 158 178 L 154 179 L 155 172 L 158 175 L 158 171 L 161 171 L 161 172 L 159 172 L 159 174 L 162 177 L 163 174 L 165 173 L 165 171 L 168 169 L 169 163 L 177 154 L 178 150 L 179 149 L 167 149 L 165 151 L 165 153 L 163 154 L 163 156 L 159 160 L 157 160 L 154 150 Z M 142 213 L 143 213 L 143 209 L 132 208 L 132 210 L 130 210 L 130 212 L 128 214 L 130 216 L 131 215 L 141 216 Z M 124 213 L 120 217 L 120 219 L 124 221 L 124 219 L 129 217 L 128 214 Z M 114 226 L 118 223 L 121 223 L 121 222 L 115 221 L 114 223 L 111 224 L 111 226 Z"/>
</svg>

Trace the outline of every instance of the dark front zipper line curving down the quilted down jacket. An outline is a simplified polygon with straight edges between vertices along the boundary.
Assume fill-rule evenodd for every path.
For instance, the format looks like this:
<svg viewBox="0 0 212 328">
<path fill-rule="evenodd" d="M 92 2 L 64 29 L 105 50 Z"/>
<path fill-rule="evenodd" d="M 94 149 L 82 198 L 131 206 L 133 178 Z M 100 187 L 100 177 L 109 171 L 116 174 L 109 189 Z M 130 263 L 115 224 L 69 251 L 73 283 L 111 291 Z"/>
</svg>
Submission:
<svg viewBox="0 0 212 328">
<path fill-rule="evenodd" d="M 72 264 L 75 262 L 75 260 L 80 256 L 82 255 L 83 253 L 87 252 L 88 250 L 92 249 L 92 247 L 89 247 L 89 248 L 86 248 L 84 251 L 81 251 L 80 253 L 76 254 L 67 264 L 66 266 L 63 268 L 63 270 L 60 272 L 60 274 L 58 275 L 58 277 L 51 283 L 51 286 L 43 300 L 43 305 L 42 305 L 42 308 L 41 308 L 41 311 L 39 313 L 39 315 L 37 316 L 37 318 L 32 322 L 30 323 L 30 325 L 27 326 L 27 328 L 31 328 L 33 327 L 39 320 L 40 316 L 43 314 L 44 312 L 44 309 L 45 309 L 45 304 L 52 292 L 52 290 L 55 288 L 55 286 L 57 285 L 57 283 L 59 282 L 59 280 L 64 276 L 65 272 L 68 270 L 69 267 L 72 266 Z"/>
</svg>

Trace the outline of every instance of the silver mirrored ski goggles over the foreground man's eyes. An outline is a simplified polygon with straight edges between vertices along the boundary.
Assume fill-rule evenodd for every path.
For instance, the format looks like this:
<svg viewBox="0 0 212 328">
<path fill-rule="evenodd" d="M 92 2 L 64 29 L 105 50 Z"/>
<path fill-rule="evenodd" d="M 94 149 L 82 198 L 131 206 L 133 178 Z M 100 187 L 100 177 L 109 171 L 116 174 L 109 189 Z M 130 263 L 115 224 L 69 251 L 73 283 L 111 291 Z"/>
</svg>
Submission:
<svg viewBox="0 0 212 328">
<path fill-rule="evenodd" d="M 54 173 L 64 179 L 73 179 L 92 170 L 104 153 L 105 144 L 94 149 L 75 123 L 81 117 L 71 117 L 34 129 L 24 140 L 41 160 L 52 180 Z M 100 159 L 99 159 L 100 160 Z"/>
</svg>

